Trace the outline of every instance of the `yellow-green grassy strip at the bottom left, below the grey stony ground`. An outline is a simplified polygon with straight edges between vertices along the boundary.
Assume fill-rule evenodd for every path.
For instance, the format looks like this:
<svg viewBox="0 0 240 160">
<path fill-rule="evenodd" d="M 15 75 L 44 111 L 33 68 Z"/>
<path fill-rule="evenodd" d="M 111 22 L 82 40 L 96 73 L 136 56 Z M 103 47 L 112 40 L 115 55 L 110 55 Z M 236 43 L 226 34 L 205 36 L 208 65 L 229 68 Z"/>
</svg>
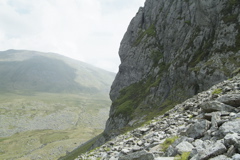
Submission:
<svg viewBox="0 0 240 160">
<path fill-rule="evenodd" d="M 100 132 L 93 128 L 76 128 L 18 133 L 0 138 L 0 159 L 57 159 Z"/>
</svg>

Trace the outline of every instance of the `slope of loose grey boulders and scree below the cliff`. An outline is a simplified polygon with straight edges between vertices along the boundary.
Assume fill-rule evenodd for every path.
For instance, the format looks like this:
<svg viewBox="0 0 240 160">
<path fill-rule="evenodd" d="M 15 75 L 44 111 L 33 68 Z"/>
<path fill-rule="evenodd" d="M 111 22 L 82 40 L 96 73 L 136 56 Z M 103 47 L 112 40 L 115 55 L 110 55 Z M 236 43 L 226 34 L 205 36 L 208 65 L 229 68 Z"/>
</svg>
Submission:
<svg viewBox="0 0 240 160">
<path fill-rule="evenodd" d="M 239 160 L 239 100 L 240 75 L 198 93 L 76 160 Z M 219 109 L 215 110 L 211 102 L 217 102 Z M 213 109 L 205 110 L 206 103 Z M 234 110 L 222 107 L 226 104 Z"/>
</svg>

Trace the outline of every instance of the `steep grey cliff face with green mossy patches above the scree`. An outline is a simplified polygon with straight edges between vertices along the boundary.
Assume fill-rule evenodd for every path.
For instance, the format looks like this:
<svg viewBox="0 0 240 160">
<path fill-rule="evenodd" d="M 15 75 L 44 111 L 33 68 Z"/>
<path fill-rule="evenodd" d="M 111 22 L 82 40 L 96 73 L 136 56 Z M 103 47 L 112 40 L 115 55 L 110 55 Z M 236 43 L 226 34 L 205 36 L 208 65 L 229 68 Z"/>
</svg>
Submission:
<svg viewBox="0 0 240 160">
<path fill-rule="evenodd" d="M 105 132 L 135 126 L 239 71 L 240 2 L 146 0 L 121 42 Z"/>
</svg>

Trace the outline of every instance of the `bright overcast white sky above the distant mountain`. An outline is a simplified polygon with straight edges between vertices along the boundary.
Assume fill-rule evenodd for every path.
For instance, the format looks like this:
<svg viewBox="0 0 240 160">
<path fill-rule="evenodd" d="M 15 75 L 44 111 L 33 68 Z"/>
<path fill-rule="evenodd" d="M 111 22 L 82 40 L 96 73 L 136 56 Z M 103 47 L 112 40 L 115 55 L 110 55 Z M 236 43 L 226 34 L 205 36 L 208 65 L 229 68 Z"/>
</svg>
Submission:
<svg viewBox="0 0 240 160">
<path fill-rule="evenodd" d="M 118 71 L 118 49 L 145 0 L 0 0 L 0 50 L 54 52 Z"/>
</svg>

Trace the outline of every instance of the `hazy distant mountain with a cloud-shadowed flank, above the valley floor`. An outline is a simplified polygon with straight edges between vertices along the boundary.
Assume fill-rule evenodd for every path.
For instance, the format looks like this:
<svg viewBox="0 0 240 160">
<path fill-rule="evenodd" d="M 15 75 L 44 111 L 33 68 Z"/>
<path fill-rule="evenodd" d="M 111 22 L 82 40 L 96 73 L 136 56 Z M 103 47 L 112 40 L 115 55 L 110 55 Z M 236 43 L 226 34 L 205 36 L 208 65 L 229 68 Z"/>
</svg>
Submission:
<svg viewBox="0 0 240 160">
<path fill-rule="evenodd" d="M 114 73 L 55 53 L 0 52 L 1 92 L 108 93 Z"/>
</svg>

